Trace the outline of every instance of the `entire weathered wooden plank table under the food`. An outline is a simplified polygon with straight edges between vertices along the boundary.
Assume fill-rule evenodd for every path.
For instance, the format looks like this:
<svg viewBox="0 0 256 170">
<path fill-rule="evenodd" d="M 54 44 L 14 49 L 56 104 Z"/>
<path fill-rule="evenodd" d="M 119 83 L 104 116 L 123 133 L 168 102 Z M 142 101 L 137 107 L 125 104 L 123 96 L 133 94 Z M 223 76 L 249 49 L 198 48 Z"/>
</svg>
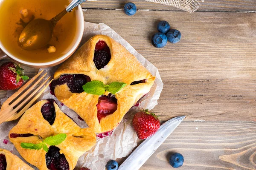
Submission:
<svg viewBox="0 0 256 170">
<path fill-rule="evenodd" d="M 133 0 L 139 10 L 131 17 L 121 10 L 125 2 L 84 3 L 85 21 L 107 24 L 157 66 L 164 88 L 153 111 L 163 122 L 186 115 L 141 170 L 173 169 L 173 151 L 185 157 L 180 170 L 255 170 L 256 1 L 206 0 L 188 13 Z M 151 45 L 160 20 L 181 31 L 179 43 Z M 30 77 L 37 72 L 26 69 Z"/>
</svg>

